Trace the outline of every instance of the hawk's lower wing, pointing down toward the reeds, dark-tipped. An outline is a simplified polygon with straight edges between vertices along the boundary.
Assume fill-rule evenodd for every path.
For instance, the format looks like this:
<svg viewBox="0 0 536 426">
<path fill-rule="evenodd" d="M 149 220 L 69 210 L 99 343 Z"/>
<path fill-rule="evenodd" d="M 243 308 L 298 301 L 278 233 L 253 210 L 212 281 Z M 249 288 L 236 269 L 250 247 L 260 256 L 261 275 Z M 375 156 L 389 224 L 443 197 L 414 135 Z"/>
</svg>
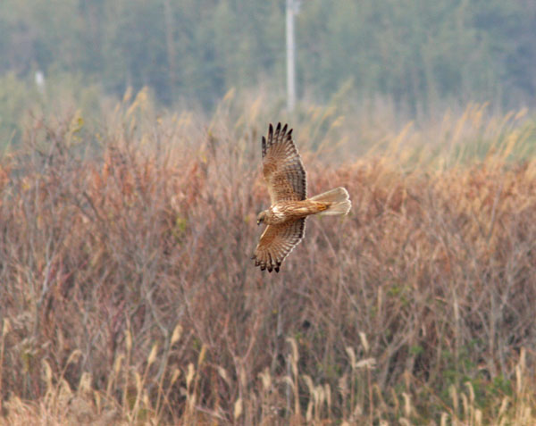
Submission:
<svg viewBox="0 0 536 426">
<path fill-rule="evenodd" d="M 287 221 L 281 225 L 268 225 L 255 248 L 255 266 L 261 270 L 279 272 L 281 263 L 292 249 L 304 238 L 306 218 Z"/>
</svg>

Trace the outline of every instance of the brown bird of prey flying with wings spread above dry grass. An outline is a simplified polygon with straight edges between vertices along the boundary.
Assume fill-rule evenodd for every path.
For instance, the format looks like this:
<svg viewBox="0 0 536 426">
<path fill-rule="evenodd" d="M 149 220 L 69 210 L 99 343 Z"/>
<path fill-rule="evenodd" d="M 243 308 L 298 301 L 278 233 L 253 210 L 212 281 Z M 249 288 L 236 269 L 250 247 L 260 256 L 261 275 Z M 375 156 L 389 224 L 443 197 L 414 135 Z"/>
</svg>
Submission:
<svg viewBox="0 0 536 426">
<path fill-rule="evenodd" d="M 307 198 L 306 170 L 292 141 L 292 129 L 281 122 L 263 137 L 263 173 L 272 205 L 257 216 L 268 225 L 255 248 L 255 266 L 279 272 L 281 263 L 304 238 L 310 214 L 347 214 L 352 206 L 348 191 L 335 188 Z"/>
</svg>

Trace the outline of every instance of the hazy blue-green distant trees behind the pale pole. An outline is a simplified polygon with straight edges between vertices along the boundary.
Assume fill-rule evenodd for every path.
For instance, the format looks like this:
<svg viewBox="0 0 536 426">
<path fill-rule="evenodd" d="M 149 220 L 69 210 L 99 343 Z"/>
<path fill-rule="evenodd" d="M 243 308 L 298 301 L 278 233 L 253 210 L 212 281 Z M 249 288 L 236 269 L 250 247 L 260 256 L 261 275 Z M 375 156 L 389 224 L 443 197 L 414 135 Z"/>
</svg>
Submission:
<svg viewBox="0 0 536 426">
<path fill-rule="evenodd" d="M 300 96 L 532 104 L 536 3 L 306 0 L 296 18 Z M 77 74 L 107 93 L 148 86 L 210 108 L 228 88 L 285 89 L 285 1 L 4 0 L 0 73 Z"/>
</svg>

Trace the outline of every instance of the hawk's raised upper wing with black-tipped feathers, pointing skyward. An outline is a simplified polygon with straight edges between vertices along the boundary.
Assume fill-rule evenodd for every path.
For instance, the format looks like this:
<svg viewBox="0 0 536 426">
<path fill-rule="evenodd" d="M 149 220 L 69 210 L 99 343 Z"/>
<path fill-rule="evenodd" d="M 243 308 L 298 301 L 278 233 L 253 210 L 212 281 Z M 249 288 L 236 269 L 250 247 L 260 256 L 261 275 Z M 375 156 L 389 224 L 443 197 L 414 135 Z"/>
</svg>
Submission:
<svg viewBox="0 0 536 426">
<path fill-rule="evenodd" d="M 278 123 L 275 132 L 270 124 L 268 138 L 263 137 L 263 173 L 272 205 L 306 199 L 306 170 L 292 141 L 292 129 L 287 132 L 286 124 L 281 129 Z"/>
</svg>

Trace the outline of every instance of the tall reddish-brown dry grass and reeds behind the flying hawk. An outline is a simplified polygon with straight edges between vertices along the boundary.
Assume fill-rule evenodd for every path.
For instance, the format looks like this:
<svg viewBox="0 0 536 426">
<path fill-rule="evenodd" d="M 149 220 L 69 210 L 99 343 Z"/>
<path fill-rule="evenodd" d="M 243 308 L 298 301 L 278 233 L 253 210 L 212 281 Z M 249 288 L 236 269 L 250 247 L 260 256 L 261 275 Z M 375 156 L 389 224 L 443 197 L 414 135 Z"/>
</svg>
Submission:
<svg viewBox="0 0 536 426">
<path fill-rule="evenodd" d="M 470 105 L 344 161 L 351 117 L 304 113 L 310 192 L 354 207 L 269 275 L 249 260 L 268 112 L 231 98 L 205 119 L 128 95 L 98 131 L 38 120 L 4 155 L 0 422 L 536 422 L 524 113 Z"/>
</svg>

